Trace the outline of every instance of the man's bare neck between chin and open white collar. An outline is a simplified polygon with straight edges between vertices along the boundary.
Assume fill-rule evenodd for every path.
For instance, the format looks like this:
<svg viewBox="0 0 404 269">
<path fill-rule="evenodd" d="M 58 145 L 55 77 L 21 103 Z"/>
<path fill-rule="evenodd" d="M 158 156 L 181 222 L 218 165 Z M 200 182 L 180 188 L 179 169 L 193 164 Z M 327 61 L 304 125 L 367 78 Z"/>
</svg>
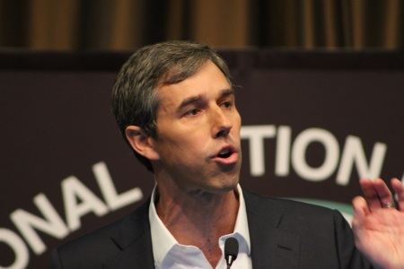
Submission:
<svg viewBox="0 0 404 269">
<path fill-rule="evenodd" d="M 156 210 L 166 228 L 180 244 L 199 247 L 215 267 L 222 256 L 218 239 L 234 230 L 239 208 L 236 191 L 167 193 L 163 187 L 158 191 Z"/>
</svg>

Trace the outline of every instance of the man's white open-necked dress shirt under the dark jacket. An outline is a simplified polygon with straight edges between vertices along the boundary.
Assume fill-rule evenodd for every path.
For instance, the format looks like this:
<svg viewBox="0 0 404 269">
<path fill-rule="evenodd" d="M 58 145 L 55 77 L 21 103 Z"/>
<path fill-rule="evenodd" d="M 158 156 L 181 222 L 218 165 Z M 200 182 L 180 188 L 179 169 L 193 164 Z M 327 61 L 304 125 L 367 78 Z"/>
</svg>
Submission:
<svg viewBox="0 0 404 269">
<path fill-rule="evenodd" d="M 233 233 L 222 236 L 218 240 L 218 245 L 222 250 L 222 258 L 215 266 L 215 269 L 225 269 L 224 241 L 233 237 L 239 241 L 239 254 L 233 262 L 232 269 L 251 269 L 250 258 L 250 233 L 247 221 L 247 212 L 242 188 L 240 185 L 235 190 L 239 195 L 239 211 L 234 226 Z M 155 201 L 156 187 L 152 194 L 152 203 L 149 207 L 149 220 L 152 233 L 154 265 L 157 269 L 186 269 L 186 268 L 212 268 L 203 252 L 195 246 L 186 246 L 178 243 L 171 235 L 170 231 L 160 220 L 153 201 Z"/>
</svg>

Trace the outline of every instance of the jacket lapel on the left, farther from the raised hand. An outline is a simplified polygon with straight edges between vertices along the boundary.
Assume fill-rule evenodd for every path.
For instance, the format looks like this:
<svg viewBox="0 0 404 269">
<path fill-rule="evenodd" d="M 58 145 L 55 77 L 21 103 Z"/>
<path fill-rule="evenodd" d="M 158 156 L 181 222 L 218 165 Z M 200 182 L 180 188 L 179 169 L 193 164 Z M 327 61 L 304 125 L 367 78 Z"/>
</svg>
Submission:
<svg viewBox="0 0 404 269">
<path fill-rule="evenodd" d="M 154 268 L 154 257 L 148 218 L 150 199 L 122 222 L 111 239 L 119 255 L 110 258 L 102 268 Z"/>
</svg>

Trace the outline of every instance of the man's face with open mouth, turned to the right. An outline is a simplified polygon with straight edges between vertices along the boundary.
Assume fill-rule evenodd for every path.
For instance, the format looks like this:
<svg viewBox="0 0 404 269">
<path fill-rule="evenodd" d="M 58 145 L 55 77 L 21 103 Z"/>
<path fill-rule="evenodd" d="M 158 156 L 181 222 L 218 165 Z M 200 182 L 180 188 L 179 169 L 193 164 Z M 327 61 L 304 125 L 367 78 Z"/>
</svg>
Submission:
<svg viewBox="0 0 404 269">
<path fill-rule="evenodd" d="M 152 140 L 158 184 L 186 192 L 233 189 L 242 163 L 241 117 L 224 74 L 208 61 L 198 73 L 158 92 L 157 139 Z"/>
</svg>

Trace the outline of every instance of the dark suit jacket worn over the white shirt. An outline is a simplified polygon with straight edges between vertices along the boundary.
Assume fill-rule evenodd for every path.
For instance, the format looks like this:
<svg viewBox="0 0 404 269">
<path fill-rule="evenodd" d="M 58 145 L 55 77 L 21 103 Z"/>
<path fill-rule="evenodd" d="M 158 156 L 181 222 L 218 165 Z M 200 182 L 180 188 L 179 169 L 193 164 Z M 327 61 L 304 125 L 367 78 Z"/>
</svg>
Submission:
<svg viewBox="0 0 404 269">
<path fill-rule="evenodd" d="M 370 268 L 337 211 L 243 190 L 253 268 Z M 50 268 L 154 268 L 150 200 L 134 213 L 52 252 Z"/>
</svg>

